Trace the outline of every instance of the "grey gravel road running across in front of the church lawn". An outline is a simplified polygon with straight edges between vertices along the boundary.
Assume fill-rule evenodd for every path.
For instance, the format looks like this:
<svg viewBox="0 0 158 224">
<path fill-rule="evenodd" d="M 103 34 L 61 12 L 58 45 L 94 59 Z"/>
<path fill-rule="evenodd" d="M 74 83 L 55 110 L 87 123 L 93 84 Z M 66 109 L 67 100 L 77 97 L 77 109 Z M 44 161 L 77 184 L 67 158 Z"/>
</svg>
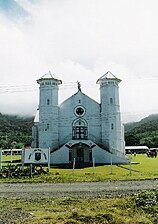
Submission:
<svg viewBox="0 0 158 224">
<path fill-rule="evenodd" d="M 115 197 L 158 189 L 158 179 L 60 184 L 0 184 L 0 197 Z"/>
</svg>

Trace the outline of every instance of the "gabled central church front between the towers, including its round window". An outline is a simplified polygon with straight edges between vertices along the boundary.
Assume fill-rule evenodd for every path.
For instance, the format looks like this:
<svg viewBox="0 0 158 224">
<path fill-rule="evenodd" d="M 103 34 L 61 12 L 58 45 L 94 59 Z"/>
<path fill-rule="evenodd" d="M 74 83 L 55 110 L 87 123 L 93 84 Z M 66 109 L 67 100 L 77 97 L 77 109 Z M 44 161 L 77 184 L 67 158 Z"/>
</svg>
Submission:
<svg viewBox="0 0 158 224">
<path fill-rule="evenodd" d="M 78 91 L 59 106 L 59 141 L 75 137 L 79 130 L 75 127 L 82 127 L 84 137 L 88 133 L 88 136 L 99 138 L 100 116 L 100 104 Z"/>
</svg>

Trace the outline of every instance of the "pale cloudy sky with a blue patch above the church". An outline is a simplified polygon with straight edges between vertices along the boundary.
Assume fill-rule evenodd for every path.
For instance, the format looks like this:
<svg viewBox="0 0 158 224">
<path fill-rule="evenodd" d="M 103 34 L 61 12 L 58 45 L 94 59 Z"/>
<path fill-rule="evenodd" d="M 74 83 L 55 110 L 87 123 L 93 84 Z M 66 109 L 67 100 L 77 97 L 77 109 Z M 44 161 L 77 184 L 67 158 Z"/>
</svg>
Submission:
<svg viewBox="0 0 158 224">
<path fill-rule="evenodd" d="M 157 0 L 0 0 L 0 112 L 35 115 L 38 78 L 100 102 L 98 78 L 119 84 L 122 122 L 158 113 Z"/>
</svg>

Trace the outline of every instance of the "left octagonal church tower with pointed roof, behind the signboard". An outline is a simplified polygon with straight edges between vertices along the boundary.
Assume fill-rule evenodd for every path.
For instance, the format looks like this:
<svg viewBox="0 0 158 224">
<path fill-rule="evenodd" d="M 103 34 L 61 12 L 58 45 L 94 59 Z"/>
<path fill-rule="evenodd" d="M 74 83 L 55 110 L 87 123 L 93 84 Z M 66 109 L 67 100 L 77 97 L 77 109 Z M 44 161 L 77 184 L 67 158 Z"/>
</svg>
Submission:
<svg viewBox="0 0 158 224">
<path fill-rule="evenodd" d="M 39 96 L 39 148 L 51 150 L 58 147 L 58 89 L 62 81 L 51 72 L 37 80 L 40 85 Z"/>
</svg>

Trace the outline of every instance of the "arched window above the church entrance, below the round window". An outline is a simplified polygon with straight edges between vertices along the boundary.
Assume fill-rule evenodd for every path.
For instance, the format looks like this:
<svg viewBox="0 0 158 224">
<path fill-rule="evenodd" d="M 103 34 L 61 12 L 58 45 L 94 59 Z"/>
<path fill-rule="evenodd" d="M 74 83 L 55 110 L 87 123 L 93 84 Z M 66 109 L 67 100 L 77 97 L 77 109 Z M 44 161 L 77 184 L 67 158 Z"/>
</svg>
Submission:
<svg viewBox="0 0 158 224">
<path fill-rule="evenodd" d="M 77 119 L 72 124 L 72 139 L 87 139 L 87 122 L 83 119 Z"/>
</svg>

